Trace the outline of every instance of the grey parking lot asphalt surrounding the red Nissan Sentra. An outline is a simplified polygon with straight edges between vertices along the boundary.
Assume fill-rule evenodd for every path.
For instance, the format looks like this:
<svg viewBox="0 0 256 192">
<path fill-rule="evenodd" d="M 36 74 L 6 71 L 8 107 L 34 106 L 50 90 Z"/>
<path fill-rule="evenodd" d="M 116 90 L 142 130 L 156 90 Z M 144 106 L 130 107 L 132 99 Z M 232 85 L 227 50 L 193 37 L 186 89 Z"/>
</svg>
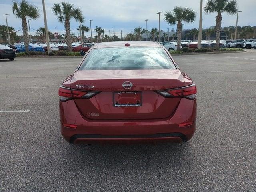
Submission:
<svg viewBox="0 0 256 192">
<path fill-rule="evenodd" d="M 198 88 L 192 140 L 103 146 L 60 134 L 58 86 L 81 58 L 0 60 L 0 191 L 255 192 L 256 50 L 174 59 Z"/>
</svg>

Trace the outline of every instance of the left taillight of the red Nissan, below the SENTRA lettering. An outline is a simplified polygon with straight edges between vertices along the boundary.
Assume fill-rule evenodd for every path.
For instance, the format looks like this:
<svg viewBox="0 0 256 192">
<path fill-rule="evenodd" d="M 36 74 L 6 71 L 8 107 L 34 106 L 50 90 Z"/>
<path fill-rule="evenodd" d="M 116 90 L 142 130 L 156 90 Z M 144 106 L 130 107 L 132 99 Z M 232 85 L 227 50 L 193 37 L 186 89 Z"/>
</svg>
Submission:
<svg viewBox="0 0 256 192">
<path fill-rule="evenodd" d="M 75 89 L 70 89 L 62 86 L 60 86 L 59 88 L 60 101 L 62 102 L 71 100 L 71 99 L 77 99 L 77 98 L 89 99 L 98 93 L 99 92 L 75 90 Z"/>
</svg>

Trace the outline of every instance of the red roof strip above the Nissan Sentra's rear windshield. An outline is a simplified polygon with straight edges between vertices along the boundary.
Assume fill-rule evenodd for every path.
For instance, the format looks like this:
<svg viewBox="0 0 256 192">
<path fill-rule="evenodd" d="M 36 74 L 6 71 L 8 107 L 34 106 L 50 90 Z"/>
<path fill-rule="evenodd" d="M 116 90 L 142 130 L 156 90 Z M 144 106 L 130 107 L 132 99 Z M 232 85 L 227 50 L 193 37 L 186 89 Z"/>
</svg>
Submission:
<svg viewBox="0 0 256 192">
<path fill-rule="evenodd" d="M 125 44 L 130 44 L 130 47 L 162 47 L 158 42 L 152 41 L 111 41 L 97 43 L 93 46 L 96 48 L 106 48 L 106 47 L 125 47 Z"/>
</svg>

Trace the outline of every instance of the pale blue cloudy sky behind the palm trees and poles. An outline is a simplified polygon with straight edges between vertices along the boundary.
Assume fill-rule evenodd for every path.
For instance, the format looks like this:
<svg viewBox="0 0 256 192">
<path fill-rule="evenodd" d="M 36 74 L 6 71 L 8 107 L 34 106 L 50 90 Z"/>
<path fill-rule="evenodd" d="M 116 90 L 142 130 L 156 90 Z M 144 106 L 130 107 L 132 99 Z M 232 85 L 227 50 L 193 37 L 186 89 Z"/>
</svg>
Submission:
<svg viewBox="0 0 256 192">
<path fill-rule="evenodd" d="M 62 0 L 45 0 L 46 14 L 48 29 L 51 32 L 57 32 L 63 34 L 64 24 L 61 24 L 53 14 L 51 7 L 54 3 L 61 2 Z M 89 19 L 92 20 L 92 35 L 96 35 L 94 32 L 95 26 L 101 26 L 107 34 L 112 36 L 114 34 L 113 28 L 115 28 L 115 34 L 120 37 L 121 30 L 123 36 L 133 31 L 135 27 L 142 26 L 146 28 L 146 19 L 148 19 L 148 30 L 153 27 L 158 28 L 158 11 L 162 11 L 160 14 L 160 29 L 168 31 L 176 26 L 170 26 L 164 21 L 164 13 L 170 12 L 175 6 L 189 7 L 196 11 L 196 20 L 194 23 L 183 23 L 184 29 L 198 28 L 199 26 L 199 11 L 200 0 L 66 0 L 74 4 L 74 6 L 81 8 L 85 17 L 84 25 L 90 27 Z M 30 20 L 31 34 L 34 35 L 36 29 L 44 27 L 43 12 L 42 12 L 42 0 L 28 0 L 28 2 L 38 6 L 40 9 L 40 18 L 38 20 Z M 206 5 L 207 0 L 203 0 L 203 6 Z M 243 12 L 239 13 L 238 25 L 240 26 L 256 26 L 256 0 L 237 0 L 239 10 Z M 0 0 L 0 25 L 6 25 L 5 15 L 8 15 L 8 25 L 14 27 L 16 30 L 22 29 L 21 20 L 16 18 L 12 13 L 12 0 Z M 250 14 L 248 14 L 250 13 Z M 203 12 L 203 28 L 215 26 L 216 13 L 205 14 Z M 222 14 L 222 26 L 232 26 L 236 24 L 236 15 Z M 71 33 L 75 33 L 78 36 L 79 32 L 78 23 L 74 20 L 70 21 Z M 34 29 L 34 30 L 33 30 Z M 22 35 L 22 31 L 17 32 L 18 35 Z M 85 33 L 86 36 L 90 36 L 90 32 Z"/>
</svg>

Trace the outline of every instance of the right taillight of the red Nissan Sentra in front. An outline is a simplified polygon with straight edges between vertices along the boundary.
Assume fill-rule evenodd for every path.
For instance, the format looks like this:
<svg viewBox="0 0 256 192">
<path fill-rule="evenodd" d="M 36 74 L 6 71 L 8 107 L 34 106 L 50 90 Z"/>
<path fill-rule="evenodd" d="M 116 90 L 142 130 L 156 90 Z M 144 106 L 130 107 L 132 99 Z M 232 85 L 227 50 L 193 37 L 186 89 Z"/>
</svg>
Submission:
<svg viewBox="0 0 256 192">
<path fill-rule="evenodd" d="M 184 88 L 182 87 L 169 90 L 160 90 L 156 92 L 164 97 L 184 97 L 193 100 L 196 98 L 197 89 L 196 85 L 192 84 Z"/>
</svg>

